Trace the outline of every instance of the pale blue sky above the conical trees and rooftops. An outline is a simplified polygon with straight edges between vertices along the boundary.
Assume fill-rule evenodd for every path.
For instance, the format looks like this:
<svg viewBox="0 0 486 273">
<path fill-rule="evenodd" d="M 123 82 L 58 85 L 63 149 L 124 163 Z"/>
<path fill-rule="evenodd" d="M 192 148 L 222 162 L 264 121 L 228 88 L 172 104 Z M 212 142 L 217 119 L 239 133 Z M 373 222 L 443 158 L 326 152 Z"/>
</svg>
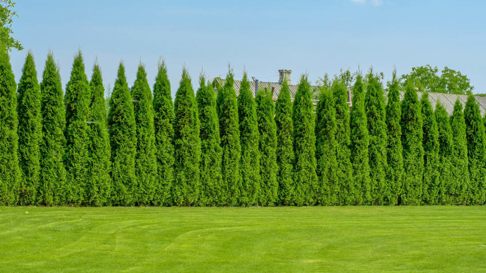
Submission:
<svg viewBox="0 0 486 273">
<path fill-rule="evenodd" d="M 474 93 L 486 93 L 485 1 L 19 1 L 14 36 L 25 47 L 12 52 L 18 81 L 25 54 L 32 50 L 39 79 L 49 48 L 59 62 L 63 86 L 77 49 L 87 74 L 95 58 L 104 84 L 113 86 L 120 60 L 129 85 L 141 61 L 153 85 L 159 57 L 169 70 L 175 94 L 185 65 L 198 87 L 201 68 L 208 77 L 277 81 L 291 69 L 315 82 L 340 68 L 373 66 L 391 77 L 412 67 L 448 66 L 468 75 Z"/>
</svg>

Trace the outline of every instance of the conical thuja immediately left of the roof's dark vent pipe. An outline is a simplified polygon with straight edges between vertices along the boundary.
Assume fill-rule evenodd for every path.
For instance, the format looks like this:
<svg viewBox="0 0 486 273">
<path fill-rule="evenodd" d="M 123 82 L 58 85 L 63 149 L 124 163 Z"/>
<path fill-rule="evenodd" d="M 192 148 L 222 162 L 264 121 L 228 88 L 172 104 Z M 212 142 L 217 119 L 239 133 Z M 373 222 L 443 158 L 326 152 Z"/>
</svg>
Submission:
<svg viewBox="0 0 486 273">
<path fill-rule="evenodd" d="M 238 96 L 239 136 L 241 144 L 241 204 L 261 203 L 259 132 L 255 100 L 244 72 Z"/>
</svg>

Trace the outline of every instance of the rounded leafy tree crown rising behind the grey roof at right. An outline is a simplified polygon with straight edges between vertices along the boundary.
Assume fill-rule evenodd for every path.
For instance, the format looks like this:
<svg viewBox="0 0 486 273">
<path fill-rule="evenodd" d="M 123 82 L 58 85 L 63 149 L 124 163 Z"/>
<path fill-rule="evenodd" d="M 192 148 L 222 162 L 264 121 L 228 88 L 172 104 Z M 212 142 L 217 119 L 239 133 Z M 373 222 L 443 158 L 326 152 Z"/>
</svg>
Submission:
<svg viewBox="0 0 486 273">
<path fill-rule="evenodd" d="M 426 65 L 413 67 L 409 74 L 404 74 L 401 78 L 402 86 L 405 86 L 406 82 L 411 80 L 415 87 L 425 92 L 472 94 L 474 89 L 466 75 L 447 66 L 442 69 L 440 76 L 438 76 L 436 66 Z"/>
</svg>

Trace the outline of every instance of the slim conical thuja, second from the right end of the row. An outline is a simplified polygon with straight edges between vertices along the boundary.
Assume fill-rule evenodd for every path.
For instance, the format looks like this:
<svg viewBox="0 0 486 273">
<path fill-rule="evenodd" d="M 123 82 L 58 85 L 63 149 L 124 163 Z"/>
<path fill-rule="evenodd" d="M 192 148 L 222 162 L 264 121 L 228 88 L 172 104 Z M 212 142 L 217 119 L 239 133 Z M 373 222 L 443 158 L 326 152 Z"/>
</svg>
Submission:
<svg viewBox="0 0 486 273">
<path fill-rule="evenodd" d="M 451 118 L 452 132 L 452 176 L 451 188 L 453 191 L 453 203 L 468 202 L 469 199 L 469 162 L 467 153 L 466 122 L 462 112 L 462 104 L 459 98 L 454 104 Z"/>
</svg>

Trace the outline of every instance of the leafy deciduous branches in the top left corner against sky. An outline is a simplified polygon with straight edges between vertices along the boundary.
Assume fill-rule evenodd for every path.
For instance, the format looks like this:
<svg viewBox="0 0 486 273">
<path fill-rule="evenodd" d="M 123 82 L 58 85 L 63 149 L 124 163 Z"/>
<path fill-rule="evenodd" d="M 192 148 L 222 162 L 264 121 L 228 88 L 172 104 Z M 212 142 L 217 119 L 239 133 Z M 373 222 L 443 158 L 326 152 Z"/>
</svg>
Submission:
<svg viewBox="0 0 486 273">
<path fill-rule="evenodd" d="M 2 3 L 3 2 L 3 3 Z M 12 23 L 14 17 L 19 17 L 16 11 L 13 11 L 15 3 L 12 0 L 0 1 L 0 45 L 12 52 L 12 48 L 23 50 L 22 44 L 12 37 Z"/>
</svg>

